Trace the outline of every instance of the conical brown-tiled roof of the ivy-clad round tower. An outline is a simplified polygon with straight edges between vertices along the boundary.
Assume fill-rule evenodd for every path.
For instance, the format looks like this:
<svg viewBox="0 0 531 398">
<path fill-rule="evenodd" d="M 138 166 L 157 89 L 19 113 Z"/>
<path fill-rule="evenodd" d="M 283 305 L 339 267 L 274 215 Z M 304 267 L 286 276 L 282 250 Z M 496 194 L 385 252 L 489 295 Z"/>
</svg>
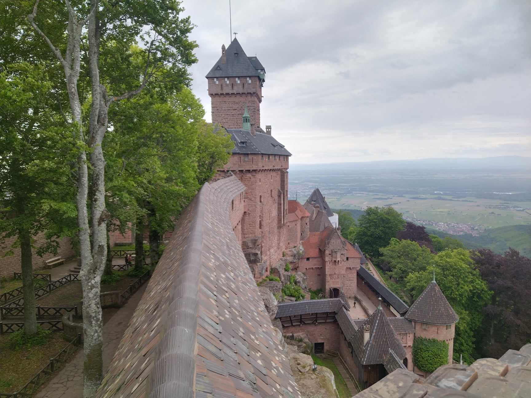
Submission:
<svg viewBox="0 0 531 398">
<path fill-rule="evenodd" d="M 405 317 L 411 321 L 431 323 L 433 325 L 450 325 L 459 321 L 459 316 L 444 297 L 437 282 L 433 281 L 409 308 Z"/>
</svg>

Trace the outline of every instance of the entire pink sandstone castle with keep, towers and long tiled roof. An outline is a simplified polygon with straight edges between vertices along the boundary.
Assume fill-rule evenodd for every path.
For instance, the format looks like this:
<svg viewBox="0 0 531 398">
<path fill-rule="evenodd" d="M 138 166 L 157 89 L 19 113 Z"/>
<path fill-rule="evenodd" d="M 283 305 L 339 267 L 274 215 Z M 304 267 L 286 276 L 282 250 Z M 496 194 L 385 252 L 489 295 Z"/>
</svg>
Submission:
<svg viewBox="0 0 531 398">
<path fill-rule="evenodd" d="M 407 306 L 341 236 L 318 189 L 304 205 L 287 200 L 291 154 L 260 127 L 258 58 L 234 39 L 206 77 L 212 122 L 234 150 L 177 221 L 97 396 L 301 398 L 282 334 L 336 355 L 363 388 L 397 369 L 427 376 L 414 365 L 415 337 L 448 342 L 451 362 L 458 316 L 435 280 Z M 256 281 L 288 251 L 297 255 L 287 272 L 326 298 L 271 315 Z"/>
</svg>

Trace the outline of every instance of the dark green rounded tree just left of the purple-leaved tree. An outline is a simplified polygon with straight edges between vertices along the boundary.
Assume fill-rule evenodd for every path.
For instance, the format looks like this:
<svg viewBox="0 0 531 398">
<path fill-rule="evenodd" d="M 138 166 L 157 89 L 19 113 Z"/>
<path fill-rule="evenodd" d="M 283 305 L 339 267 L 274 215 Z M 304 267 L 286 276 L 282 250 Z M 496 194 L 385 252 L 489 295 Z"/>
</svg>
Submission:
<svg viewBox="0 0 531 398">
<path fill-rule="evenodd" d="M 380 248 L 389 245 L 405 223 L 402 214 L 392 207 L 367 207 L 358 219 L 355 241 L 364 253 L 376 259 L 380 256 Z"/>
</svg>

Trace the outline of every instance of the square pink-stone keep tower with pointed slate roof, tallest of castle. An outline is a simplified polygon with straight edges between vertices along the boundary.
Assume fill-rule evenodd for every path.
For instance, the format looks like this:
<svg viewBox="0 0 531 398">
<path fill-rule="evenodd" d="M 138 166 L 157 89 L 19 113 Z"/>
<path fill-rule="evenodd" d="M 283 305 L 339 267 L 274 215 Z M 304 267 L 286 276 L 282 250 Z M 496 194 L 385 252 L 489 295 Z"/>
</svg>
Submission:
<svg viewBox="0 0 531 398">
<path fill-rule="evenodd" d="M 212 123 L 241 128 L 246 106 L 253 128 L 260 127 L 265 69 L 258 58 L 248 57 L 234 39 L 228 48 L 221 46 L 221 57 L 205 77 L 211 98 Z"/>
</svg>

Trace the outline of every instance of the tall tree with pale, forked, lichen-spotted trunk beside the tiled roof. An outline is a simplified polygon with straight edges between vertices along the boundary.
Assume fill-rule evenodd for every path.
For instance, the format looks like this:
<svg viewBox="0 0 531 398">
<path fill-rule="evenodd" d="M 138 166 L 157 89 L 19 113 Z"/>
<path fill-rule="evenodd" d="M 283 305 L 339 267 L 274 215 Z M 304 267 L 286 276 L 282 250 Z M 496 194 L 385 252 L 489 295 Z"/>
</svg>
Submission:
<svg viewBox="0 0 531 398">
<path fill-rule="evenodd" d="M 109 107 L 118 101 L 140 93 L 145 86 L 156 80 L 168 84 L 189 83 L 187 67 L 196 62 L 192 53 L 195 42 L 188 39 L 192 29 L 189 18 L 181 19 L 183 11 L 175 2 L 81 1 L 72 4 L 65 0 L 66 32 L 64 39 L 51 38 L 39 28 L 45 21 L 37 18 L 36 0 L 28 16 L 33 29 L 45 40 L 61 64 L 70 102 L 70 118 L 75 126 L 74 137 L 78 149 L 78 175 L 76 204 L 78 210 L 79 245 L 81 254 L 81 282 L 83 286 L 83 333 L 84 333 L 84 396 L 96 394 L 102 377 L 102 340 L 100 280 L 107 257 L 107 219 L 105 206 L 105 159 L 102 142 L 107 131 Z M 85 15 L 84 18 L 83 16 Z M 37 21 L 38 20 L 38 21 Z M 56 23 L 59 23 L 57 21 Z M 88 126 L 83 128 L 82 104 L 79 95 L 81 72 L 81 39 L 86 32 L 88 52 L 84 57 L 88 65 L 91 86 Z M 130 48 L 137 38 L 142 47 L 132 53 Z M 52 41 L 54 39 L 54 42 Z M 57 41 L 61 43 L 58 44 Z M 125 51 L 124 51 L 125 50 Z M 113 54 L 120 68 L 100 65 L 100 54 Z M 110 58 L 110 55 L 107 59 Z M 136 60 L 143 60 L 140 67 Z M 132 62 L 135 60 L 135 62 Z M 109 62 L 112 64 L 112 62 Z M 130 67 L 130 68 L 128 68 Z M 100 75 L 100 68 L 102 74 Z M 127 71 L 128 76 L 124 76 Z M 173 83 L 172 83 L 173 82 Z M 108 91 L 109 90 L 109 91 Z M 108 94 L 112 93 L 112 94 Z M 91 166 L 91 214 L 87 208 L 89 174 L 87 153 Z"/>
</svg>

